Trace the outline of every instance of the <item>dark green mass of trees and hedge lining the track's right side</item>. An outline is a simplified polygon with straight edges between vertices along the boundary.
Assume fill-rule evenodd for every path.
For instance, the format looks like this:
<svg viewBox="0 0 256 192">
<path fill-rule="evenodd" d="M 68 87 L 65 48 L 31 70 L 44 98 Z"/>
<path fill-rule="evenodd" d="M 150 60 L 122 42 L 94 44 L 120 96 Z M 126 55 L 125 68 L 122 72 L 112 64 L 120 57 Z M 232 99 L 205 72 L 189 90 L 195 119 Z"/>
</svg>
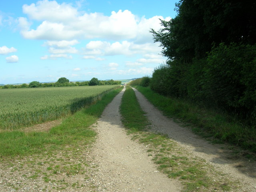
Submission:
<svg viewBox="0 0 256 192">
<path fill-rule="evenodd" d="M 256 126 L 256 4 L 183 0 L 177 16 L 151 30 L 166 65 L 152 74 L 152 90 L 232 113 Z"/>
</svg>

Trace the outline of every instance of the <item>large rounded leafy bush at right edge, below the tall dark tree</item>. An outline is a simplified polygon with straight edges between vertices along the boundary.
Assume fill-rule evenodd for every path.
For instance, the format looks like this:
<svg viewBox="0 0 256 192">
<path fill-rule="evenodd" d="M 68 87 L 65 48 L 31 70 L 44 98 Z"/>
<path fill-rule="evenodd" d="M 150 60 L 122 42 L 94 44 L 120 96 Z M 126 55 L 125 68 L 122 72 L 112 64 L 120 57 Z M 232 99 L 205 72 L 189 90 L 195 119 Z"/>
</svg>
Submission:
<svg viewBox="0 0 256 192">
<path fill-rule="evenodd" d="M 203 91 L 206 100 L 256 118 L 256 45 L 220 44 L 208 54 Z"/>
</svg>

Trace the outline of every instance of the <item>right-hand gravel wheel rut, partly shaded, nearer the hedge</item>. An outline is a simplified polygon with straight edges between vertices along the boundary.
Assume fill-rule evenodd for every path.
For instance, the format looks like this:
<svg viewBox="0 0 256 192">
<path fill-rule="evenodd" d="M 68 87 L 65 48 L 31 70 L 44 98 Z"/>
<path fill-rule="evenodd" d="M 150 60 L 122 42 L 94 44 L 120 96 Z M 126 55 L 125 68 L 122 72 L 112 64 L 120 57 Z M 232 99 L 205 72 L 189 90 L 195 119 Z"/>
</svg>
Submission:
<svg viewBox="0 0 256 192">
<path fill-rule="evenodd" d="M 134 91 L 142 110 L 147 113 L 146 116 L 152 123 L 153 131 L 167 134 L 183 150 L 189 152 L 190 158 L 198 156 L 214 166 L 216 171 L 226 174 L 229 180 L 239 182 L 239 189 L 236 189 L 236 192 L 256 192 L 256 161 L 245 158 L 243 154 L 246 154 L 246 151 L 237 149 L 240 152 L 234 154 L 233 146 L 211 144 L 164 116 L 140 92 L 136 89 Z M 212 179 L 214 180 L 214 175 Z"/>
</svg>

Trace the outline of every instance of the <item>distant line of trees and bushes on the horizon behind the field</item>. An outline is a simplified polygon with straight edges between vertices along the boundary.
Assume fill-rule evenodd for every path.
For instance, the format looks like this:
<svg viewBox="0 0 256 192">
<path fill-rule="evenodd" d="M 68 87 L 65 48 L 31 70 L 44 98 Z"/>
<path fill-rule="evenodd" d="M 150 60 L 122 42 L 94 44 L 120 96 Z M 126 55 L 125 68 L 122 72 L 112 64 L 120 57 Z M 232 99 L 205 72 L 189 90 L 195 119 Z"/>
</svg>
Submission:
<svg viewBox="0 0 256 192">
<path fill-rule="evenodd" d="M 4 85 L 0 86 L 2 89 L 9 88 L 36 88 L 36 87 L 70 87 L 70 86 L 96 86 L 96 85 L 120 85 L 121 81 L 115 80 L 98 80 L 98 78 L 92 78 L 90 81 L 84 82 L 69 82 L 65 77 L 59 78 L 57 82 L 54 83 L 40 83 L 38 81 L 32 81 L 29 84 L 20 85 Z"/>
</svg>

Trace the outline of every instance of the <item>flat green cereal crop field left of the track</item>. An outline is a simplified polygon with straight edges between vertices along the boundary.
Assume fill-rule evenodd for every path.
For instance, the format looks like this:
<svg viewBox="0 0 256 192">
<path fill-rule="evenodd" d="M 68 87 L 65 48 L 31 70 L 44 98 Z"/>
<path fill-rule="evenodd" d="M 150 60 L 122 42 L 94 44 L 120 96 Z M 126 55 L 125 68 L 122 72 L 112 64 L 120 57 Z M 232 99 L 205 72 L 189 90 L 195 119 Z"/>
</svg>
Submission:
<svg viewBox="0 0 256 192">
<path fill-rule="evenodd" d="M 120 86 L 0 89 L 0 129 L 16 129 L 72 114 Z"/>
</svg>

